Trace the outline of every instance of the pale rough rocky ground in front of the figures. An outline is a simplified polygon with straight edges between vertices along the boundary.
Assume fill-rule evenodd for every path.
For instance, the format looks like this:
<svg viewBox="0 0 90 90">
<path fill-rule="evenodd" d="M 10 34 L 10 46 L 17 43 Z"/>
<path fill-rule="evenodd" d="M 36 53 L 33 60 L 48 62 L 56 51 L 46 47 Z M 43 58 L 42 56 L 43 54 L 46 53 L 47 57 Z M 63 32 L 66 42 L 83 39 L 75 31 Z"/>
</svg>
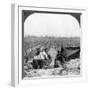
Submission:
<svg viewBox="0 0 90 90">
<path fill-rule="evenodd" d="M 80 75 L 80 59 L 72 59 L 64 64 L 64 67 L 50 69 L 25 70 L 25 77 L 48 77 L 48 76 L 77 76 Z"/>
</svg>

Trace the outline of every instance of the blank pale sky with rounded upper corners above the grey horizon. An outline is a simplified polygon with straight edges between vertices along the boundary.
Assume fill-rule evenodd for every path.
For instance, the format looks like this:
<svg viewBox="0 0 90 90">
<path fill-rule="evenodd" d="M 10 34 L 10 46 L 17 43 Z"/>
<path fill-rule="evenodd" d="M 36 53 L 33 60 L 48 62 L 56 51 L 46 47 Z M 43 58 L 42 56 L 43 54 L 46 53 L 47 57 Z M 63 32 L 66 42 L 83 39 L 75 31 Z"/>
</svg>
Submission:
<svg viewBox="0 0 90 90">
<path fill-rule="evenodd" d="M 77 19 L 68 14 L 34 13 L 24 22 L 24 36 L 80 37 Z"/>
</svg>

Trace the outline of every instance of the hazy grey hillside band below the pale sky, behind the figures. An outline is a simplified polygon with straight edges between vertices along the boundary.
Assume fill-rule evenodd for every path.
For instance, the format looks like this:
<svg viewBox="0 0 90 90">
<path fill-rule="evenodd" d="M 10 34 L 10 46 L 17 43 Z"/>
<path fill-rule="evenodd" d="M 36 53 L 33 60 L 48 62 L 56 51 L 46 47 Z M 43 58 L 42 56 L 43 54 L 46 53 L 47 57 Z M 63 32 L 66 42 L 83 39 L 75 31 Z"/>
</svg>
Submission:
<svg viewBox="0 0 90 90">
<path fill-rule="evenodd" d="M 60 47 L 80 47 L 79 37 L 36 37 L 27 36 L 24 38 L 24 49 L 32 48 L 37 45 L 42 45 L 45 47 L 56 46 Z"/>
</svg>

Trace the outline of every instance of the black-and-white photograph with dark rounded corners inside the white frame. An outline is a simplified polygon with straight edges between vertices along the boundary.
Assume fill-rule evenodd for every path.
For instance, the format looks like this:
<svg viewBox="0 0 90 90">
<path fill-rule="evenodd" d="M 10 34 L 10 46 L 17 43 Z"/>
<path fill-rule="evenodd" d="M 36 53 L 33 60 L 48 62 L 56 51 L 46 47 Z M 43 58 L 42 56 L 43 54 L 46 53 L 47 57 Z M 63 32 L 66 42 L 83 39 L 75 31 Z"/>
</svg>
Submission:
<svg viewBox="0 0 90 90">
<path fill-rule="evenodd" d="M 81 13 L 22 10 L 22 78 L 81 73 Z"/>
</svg>

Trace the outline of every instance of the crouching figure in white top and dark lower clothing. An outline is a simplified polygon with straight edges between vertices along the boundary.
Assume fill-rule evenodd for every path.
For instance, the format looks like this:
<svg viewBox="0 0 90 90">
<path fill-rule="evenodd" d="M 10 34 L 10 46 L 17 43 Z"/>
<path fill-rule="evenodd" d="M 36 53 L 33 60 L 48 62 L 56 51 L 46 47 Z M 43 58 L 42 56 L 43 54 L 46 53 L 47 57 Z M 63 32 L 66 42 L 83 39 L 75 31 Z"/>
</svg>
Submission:
<svg viewBox="0 0 90 90">
<path fill-rule="evenodd" d="M 33 57 L 33 67 L 34 69 L 42 69 L 48 66 L 48 61 L 51 60 L 47 52 L 47 48 L 41 47 L 36 50 L 36 54 Z"/>
</svg>

